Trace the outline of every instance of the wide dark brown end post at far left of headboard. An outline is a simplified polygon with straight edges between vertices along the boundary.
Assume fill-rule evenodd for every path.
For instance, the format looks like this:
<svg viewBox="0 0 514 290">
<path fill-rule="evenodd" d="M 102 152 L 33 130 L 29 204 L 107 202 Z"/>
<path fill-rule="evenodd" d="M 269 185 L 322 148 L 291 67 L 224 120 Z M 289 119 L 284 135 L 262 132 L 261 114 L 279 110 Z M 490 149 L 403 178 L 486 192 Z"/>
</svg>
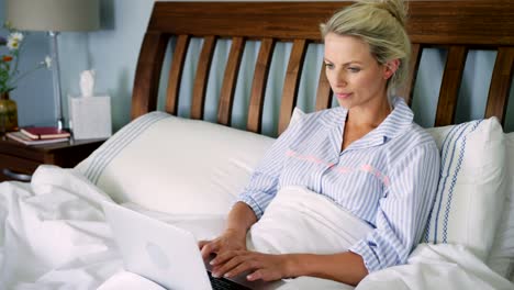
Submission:
<svg viewBox="0 0 514 290">
<path fill-rule="evenodd" d="M 147 32 L 143 38 L 134 78 L 131 118 L 154 111 L 157 107 L 160 70 L 166 45 L 169 40 L 164 33 Z"/>
</svg>

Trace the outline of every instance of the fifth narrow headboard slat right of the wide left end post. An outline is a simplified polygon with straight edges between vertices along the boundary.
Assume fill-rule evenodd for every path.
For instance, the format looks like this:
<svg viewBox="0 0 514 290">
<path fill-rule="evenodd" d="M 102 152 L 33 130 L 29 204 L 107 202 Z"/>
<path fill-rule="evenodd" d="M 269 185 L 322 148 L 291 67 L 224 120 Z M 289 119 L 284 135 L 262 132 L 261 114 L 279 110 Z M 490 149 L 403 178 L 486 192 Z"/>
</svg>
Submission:
<svg viewBox="0 0 514 290">
<path fill-rule="evenodd" d="M 295 40 L 289 57 L 286 79 L 283 81 L 282 100 L 280 103 L 280 116 L 278 134 L 280 135 L 289 125 L 291 114 L 297 104 L 298 87 L 302 76 L 303 60 L 305 59 L 308 42 Z"/>
</svg>

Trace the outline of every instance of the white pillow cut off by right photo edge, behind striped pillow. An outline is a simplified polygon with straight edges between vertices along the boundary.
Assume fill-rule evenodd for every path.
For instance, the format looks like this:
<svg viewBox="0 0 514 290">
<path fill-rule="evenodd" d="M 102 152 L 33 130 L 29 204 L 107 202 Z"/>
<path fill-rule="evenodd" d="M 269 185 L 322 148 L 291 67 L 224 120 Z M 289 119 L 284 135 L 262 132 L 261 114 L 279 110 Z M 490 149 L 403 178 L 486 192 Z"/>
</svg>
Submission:
<svg viewBox="0 0 514 290">
<path fill-rule="evenodd" d="M 488 265 L 503 277 L 514 276 L 514 132 L 505 134 L 506 197 Z M 514 278 L 514 277 L 513 277 Z"/>
</svg>

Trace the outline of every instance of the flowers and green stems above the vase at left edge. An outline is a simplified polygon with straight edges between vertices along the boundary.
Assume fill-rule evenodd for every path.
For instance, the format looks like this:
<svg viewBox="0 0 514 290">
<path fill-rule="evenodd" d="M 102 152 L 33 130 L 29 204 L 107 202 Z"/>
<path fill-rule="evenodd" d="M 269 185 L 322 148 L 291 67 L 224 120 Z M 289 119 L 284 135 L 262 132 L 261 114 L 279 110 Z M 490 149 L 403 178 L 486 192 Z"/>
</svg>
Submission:
<svg viewBox="0 0 514 290">
<path fill-rule="evenodd" d="M 9 31 L 9 35 L 7 38 L 0 36 L 0 94 L 8 93 L 15 89 L 18 82 L 29 74 L 40 68 L 49 68 L 52 66 L 52 58 L 46 56 L 43 62 L 36 64 L 31 70 L 22 74 L 18 68 L 18 64 L 24 44 L 24 35 L 9 23 L 5 23 L 3 27 Z M 2 49 L 2 46 L 5 46 L 7 49 Z M 2 51 L 7 51 L 7 53 L 2 53 Z"/>
</svg>

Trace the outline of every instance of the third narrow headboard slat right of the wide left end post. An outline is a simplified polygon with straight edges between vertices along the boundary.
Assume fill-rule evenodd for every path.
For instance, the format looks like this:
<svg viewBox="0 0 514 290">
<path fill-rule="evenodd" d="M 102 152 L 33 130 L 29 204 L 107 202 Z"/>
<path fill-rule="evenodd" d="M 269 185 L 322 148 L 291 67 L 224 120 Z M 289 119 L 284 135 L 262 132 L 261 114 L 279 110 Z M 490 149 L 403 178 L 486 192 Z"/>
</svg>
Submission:
<svg viewBox="0 0 514 290">
<path fill-rule="evenodd" d="M 236 87 L 237 74 L 239 71 L 241 57 L 245 49 L 245 38 L 234 37 L 232 40 L 231 52 L 225 68 L 220 104 L 217 108 L 217 123 L 230 125 L 232 116 L 232 104 L 234 103 L 234 91 Z"/>
</svg>

